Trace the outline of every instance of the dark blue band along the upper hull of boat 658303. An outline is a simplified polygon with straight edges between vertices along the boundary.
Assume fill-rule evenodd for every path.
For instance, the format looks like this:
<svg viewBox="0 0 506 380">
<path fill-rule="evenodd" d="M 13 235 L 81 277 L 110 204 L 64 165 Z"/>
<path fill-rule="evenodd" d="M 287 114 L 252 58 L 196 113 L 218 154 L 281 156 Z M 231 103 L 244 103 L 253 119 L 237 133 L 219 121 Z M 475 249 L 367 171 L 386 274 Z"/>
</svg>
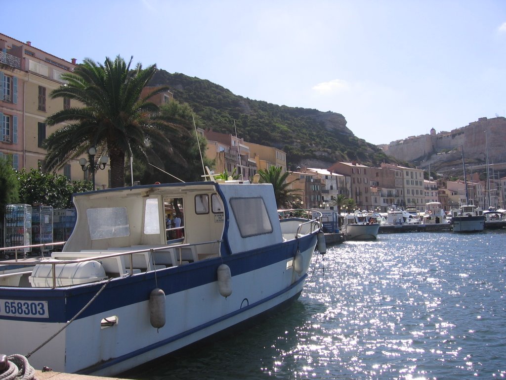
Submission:
<svg viewBox="0 0 506 380">
<path fill-rule="evenodd" d="M 229 265 L 232 276 L 259 270 L 293 257 L 297 248 L 301 251 L 309 249 L 314 245 L 315 238 L 316 234 L 313 234 L 259 250 L 159 270 L 156 272 L 156 279 L 154 272 L 113 279 L 79 318 L 146 301 L 155 281 L 166 295 L 213 283 L 218 279 L 217 270 L 222 263 Z M 0 299 L 47 300 L 49 318 L 44 319 L 44 322 L 65 323 L 72 319 L 102 286 L 103 282 L 56 289 L 4 287 L 0 288 Z M 2 319 L 42 322 L 37 318 L 1 316 L 0 320 Z"/>
</svg>

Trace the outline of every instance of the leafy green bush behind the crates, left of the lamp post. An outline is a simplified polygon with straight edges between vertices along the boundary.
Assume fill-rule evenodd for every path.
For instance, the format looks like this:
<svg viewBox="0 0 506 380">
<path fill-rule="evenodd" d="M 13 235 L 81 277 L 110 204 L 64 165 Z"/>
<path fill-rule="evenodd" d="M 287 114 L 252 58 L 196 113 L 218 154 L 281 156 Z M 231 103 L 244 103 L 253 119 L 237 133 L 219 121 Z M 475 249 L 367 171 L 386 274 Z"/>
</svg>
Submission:
<svg viewBox="0 0 506 380">
<path fill-rule="evenodd" d="M 93 189 L 90 181 L 69 181 L 64 175 L 44 173 L 34 168 L 29 171 L 23 168 L 17 179 L 20 202 L 27 205 L 40 203 L 53 208 L 71 208 L 72 194 Z"/>
</svg>

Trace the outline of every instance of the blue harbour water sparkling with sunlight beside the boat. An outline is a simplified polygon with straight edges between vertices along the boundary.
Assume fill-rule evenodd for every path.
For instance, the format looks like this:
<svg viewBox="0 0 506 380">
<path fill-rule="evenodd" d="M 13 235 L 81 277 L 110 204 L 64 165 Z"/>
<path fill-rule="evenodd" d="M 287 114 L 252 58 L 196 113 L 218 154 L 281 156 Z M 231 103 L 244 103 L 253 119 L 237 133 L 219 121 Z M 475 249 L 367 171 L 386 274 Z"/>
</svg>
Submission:
<svg viewBox="0 0 506 380">
<path fill-rule="evenodd" d="M 504 378 L 506 231 L 330 247 L 288 310 L 128 377 Z"/>
</svg>

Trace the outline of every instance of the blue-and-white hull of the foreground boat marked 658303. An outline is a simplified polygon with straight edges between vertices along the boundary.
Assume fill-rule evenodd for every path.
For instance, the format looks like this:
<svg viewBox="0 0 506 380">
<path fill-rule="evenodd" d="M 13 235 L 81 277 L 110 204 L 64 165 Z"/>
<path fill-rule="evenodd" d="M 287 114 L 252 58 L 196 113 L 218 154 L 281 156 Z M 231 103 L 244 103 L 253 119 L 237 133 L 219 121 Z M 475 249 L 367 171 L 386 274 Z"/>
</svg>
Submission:
<svg viewBox="0 0 506 380">
<path fill-rule="evenodd" d="M 71 320 L 105 285 L 90 306 L 46 346 L 30 364 L 55 371 L 110 376 L 179 350 L 247 322 L 301 293 L 316 233 L 259 250 L 198 261 L 126 278 L 56 289 L 0 288 L 0 352 L 26 354 Z M 300 251 L 302 271 L 294 270 Z M 220 295 L 219 265 L 230 267 L 232 294 Z M 150 324 L 149 295 L 165 292 L 166 323 Z M 5 302 L 45 302 L 44 318 L 12 317 Z M 104 326 L 104 319 L 117 323 Z"/>
</svg>

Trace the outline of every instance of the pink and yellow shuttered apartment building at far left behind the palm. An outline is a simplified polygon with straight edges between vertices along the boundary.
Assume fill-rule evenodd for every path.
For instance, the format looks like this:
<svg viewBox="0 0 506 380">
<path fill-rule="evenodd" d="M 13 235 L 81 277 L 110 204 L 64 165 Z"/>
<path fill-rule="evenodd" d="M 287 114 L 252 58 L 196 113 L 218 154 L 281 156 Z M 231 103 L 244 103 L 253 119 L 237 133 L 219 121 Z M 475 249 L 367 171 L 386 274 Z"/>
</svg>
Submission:
<svg viewBox="0 0 506 380">
<path fill-rule="evenodd" d="M 62 75 L 75 67 L 8 35 L 0 33 L 0 156 L 12 161 L 15 169 L 37 168 L 46 156 L 43 142 L 61 126 L 50 127 L 46 118 L 61 109 L 78 106 L 70 99 L 51 99 L 51 91 L 65 84 Z M 73 101 L 72 101 L 73 102 Z M 89 175 L 78 160 L 59 171 L 71 180 Z M 109 171 L 96 175 L 97 187 L 109 186 Z"/>
</svg>

